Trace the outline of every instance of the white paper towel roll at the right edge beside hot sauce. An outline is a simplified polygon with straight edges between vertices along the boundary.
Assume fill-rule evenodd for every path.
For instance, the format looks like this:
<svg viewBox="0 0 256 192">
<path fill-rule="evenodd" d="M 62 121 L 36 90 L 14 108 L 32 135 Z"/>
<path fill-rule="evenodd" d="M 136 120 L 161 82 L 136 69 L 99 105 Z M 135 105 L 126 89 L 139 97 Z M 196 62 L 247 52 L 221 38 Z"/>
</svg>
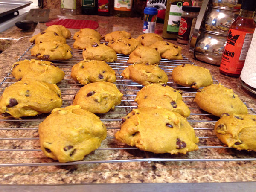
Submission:
<svg viewBox="0 0 256 192">
<path fill-rule="evenodd" d="M 240 77 L 246 84 L 256 88 L 256 29 Z"/>
</svg>

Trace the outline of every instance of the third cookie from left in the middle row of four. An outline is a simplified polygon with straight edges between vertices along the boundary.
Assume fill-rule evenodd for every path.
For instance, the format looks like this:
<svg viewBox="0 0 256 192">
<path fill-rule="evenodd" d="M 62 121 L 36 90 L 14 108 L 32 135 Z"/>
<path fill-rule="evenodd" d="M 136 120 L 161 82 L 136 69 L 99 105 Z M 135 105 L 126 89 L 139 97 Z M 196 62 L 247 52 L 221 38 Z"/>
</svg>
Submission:
<svg viewBox="0 0 256 192">
<path fill-rule="evenodd" d="M 166 73 L 157 66 L 135 64 L 129 65 L 122 71 L 121 75 L 125 79 L 132 79 L 142 85 L 148 85 L 151 83 L 164 83 L 168 82 Z"/>
</svg>

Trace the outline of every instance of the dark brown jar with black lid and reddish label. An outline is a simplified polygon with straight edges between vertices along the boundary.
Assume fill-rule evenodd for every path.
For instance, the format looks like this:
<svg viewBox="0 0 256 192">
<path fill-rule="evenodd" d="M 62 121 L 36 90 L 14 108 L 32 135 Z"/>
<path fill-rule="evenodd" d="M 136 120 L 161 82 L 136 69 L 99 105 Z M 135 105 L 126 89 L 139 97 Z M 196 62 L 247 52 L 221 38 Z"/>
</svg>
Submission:
<svg viewBox="0 0 256 192">
<path fill-rule="evenodd" d="M 179 44 L 188 44 L 189 37 L 192 35 L 200 7 L 182 6 L 182 15 L 180 18 L 180 27 L 177 37 Z"/>
</svg>

